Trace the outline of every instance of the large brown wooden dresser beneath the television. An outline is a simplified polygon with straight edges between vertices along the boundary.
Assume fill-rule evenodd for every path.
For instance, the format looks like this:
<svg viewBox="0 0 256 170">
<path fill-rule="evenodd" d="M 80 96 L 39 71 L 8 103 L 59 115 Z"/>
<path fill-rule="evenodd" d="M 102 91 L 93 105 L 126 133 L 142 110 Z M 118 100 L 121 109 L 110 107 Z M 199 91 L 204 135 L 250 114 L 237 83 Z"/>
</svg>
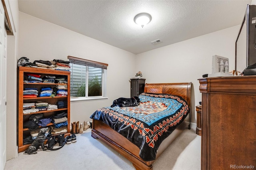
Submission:
<svg viewBox="0 0 256 170">
<path fill-rule="evenodd" d="M 198 80 L 202 93 L 201 169 L 256 168 L 256 76 Z"/>
</svg>

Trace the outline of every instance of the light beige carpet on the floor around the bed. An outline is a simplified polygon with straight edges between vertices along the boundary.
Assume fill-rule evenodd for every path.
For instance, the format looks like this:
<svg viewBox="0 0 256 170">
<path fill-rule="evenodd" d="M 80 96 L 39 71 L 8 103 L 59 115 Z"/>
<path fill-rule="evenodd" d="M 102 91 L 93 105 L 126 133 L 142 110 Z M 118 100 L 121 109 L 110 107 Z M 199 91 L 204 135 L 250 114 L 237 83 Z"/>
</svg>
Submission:
<svg viewBox="0 0 256 170">
<path fill-rule="evenodd" d="M 91 129 L 76 134 L 77 142 L 56 151 L 42 151 L 6 162 L 4 170 L 135 170 L 118 152 L 99 139 L 91 137 Z M 182 134 L 153 163 L 154 170 L 200 170 L 201 137 L 195 129 Z"/>
</svg>

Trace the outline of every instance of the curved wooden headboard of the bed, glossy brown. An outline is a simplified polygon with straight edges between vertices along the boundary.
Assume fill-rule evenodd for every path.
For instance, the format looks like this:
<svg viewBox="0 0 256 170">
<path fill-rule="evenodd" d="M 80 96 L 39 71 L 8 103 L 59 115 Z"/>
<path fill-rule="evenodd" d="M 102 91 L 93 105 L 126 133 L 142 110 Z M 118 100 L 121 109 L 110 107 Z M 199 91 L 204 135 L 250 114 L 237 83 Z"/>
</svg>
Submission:
<svg viewBox="0 0 256 170">
<path fill-rule="evenodd" d="M 181 96 L 188 102 L 191 108 L 191 85 L 192 83 L 146 83 L 145 93 L 164 93 Z"/>
</svg>

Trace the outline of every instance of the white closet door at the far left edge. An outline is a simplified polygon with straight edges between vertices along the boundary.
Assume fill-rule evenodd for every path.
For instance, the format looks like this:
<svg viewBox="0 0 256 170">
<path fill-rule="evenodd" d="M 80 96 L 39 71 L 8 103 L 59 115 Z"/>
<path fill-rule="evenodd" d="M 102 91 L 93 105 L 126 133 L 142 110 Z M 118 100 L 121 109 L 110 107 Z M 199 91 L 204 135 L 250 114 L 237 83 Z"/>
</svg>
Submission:
<svg viewBox="0 0 256 170">
<path fill-rule="evenodd" d="M 0 169 L 6 163 L 6 54 L 7 34 L 4 28 L 4 7 L 0 3 Z"/>
</svg>

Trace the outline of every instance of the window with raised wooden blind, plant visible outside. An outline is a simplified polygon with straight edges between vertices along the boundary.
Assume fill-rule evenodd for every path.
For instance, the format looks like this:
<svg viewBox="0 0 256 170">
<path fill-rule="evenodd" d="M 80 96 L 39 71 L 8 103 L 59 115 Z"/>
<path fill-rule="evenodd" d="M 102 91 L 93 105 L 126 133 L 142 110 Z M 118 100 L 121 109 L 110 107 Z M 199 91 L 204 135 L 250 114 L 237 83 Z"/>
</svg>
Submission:
<svg viewBox="0 0 256 170">
<path fill-rule="evenodd" d="M 90 99 L 104 97 L 108 64 L 68 56 L 70 61 L 70 96 Z"/>
</svg>

